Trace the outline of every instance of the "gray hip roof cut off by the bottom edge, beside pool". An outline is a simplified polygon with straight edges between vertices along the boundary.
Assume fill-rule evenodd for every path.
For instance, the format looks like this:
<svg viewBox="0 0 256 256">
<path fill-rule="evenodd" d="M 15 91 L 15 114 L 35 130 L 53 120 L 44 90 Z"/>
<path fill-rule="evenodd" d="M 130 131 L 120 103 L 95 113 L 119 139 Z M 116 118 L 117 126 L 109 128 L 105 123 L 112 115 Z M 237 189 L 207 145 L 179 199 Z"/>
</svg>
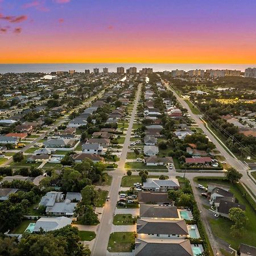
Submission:
<svg viewBox="0 0 256 256">
<path fill-rule="evenodd" d="M 161 255 L 161 256 L 193 256 L 189 240 L 176 239 L 136 239 L 135 255 Z"/>
</svg>

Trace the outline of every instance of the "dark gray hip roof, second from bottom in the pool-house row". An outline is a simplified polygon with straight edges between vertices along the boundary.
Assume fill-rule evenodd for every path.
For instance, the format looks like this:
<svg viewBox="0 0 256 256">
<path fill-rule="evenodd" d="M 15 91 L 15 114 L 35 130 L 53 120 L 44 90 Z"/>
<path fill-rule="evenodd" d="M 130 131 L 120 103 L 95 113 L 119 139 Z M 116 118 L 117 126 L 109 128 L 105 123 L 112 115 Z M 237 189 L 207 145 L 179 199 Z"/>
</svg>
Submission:
<svg viewBox="0 0 256 256">
<path fill-rule="evenodd" d="M 164 220 L 155 218 L 138 218 L 138 234 L 178 234 L 188 235 L 187 224 L 184 220 Z"/>
</svg>

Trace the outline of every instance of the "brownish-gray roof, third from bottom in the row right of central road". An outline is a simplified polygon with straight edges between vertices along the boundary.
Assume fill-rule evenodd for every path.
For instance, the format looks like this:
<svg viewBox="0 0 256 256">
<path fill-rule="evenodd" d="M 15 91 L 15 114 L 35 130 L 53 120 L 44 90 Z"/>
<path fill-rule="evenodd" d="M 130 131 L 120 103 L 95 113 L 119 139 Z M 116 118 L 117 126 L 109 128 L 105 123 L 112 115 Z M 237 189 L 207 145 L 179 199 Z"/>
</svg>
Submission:
<svg viewBox="0 0 256 256">
<path fill-rule="evenodd" d="M 177 207 L 152 204 L 140 204 L 139 216 L 146 218 L 179 218 Z"/>
</svg>

